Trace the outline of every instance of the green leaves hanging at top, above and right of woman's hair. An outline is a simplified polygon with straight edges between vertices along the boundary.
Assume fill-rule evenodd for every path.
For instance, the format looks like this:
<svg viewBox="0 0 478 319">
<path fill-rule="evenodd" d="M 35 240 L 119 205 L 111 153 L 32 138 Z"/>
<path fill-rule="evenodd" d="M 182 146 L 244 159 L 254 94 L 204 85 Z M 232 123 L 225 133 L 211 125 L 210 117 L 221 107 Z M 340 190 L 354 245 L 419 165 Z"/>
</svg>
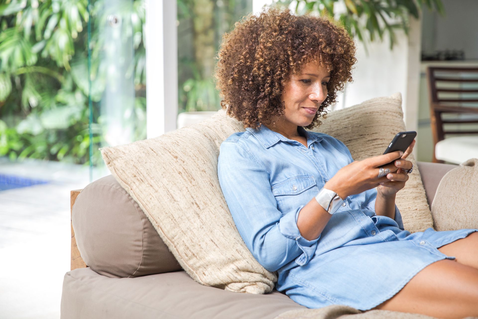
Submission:
<svg viewBox="0 0 478 319">
<path fill-rule="evenodd" d="M 418 19 L 420 8 L 425 4 L 429 10 L 441 15 L 445 9 L 441 0 L 273 0 L 276 4 L 295 4 L 298 14 L 317 12 L 340 21 L 351 36 L 356 36 L 364 45 L 368 33 L 370 41 L 380 39 L 388 33 L 390 49 L 397 43 L 395 30 L 409 33 L 409 17 Z M 299 10 L 299 7 L 302 10 Z M 337 7 L 342 10 L 337 10 Z M 377 38 L 378 36 L 378 38 Z"/>
</svg>

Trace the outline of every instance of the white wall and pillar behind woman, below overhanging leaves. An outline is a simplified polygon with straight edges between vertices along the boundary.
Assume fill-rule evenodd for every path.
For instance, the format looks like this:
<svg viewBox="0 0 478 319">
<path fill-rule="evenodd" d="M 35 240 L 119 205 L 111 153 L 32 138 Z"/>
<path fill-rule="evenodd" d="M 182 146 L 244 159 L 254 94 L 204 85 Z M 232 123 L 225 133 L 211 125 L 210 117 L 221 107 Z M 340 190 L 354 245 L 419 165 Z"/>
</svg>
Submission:
<svg viewBox="0 0 478 319">
<path fill-rule="evenodd" d="M 397 44 L 390 50 L 388 36 L 383 42 L 357 44 L 357 64 L 352 71 L 353 82 L 348 83 L 337 98 L 334 109 L 359 104 L 367 99 L 402 93 L 404 121 L 408 131 L 418 126 L 418 93 L 420 80 L 421 22 L 411 19 L 410 36 L 403 31 L 395 32 Z M 417 138 L 417 143 L 419 140 Z"/>
</svg>

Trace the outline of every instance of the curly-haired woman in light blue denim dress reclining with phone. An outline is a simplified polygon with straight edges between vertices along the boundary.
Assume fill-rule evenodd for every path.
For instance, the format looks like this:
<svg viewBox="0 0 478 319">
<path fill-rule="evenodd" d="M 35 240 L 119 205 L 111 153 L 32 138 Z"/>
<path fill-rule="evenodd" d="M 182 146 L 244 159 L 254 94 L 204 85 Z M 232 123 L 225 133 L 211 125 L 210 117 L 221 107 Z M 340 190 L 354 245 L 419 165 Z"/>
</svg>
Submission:
<svg viewBox="0 0 478 319">
<path fill-rule="evenodd" d="M 246 131 L 221 144 L 217 173 L 237 229 L 278 272 L 276 289 L 308 308 L 477 316 L 478 230 L 403 228 L 395 196 L 414 142 L 404 154 L 353 161 L 342 142 L 304 130 L 351 81 L 354 55 L 343 28 L 289 11 L 262 12 L 224 35 L 217 88 Z"/>
</svg>

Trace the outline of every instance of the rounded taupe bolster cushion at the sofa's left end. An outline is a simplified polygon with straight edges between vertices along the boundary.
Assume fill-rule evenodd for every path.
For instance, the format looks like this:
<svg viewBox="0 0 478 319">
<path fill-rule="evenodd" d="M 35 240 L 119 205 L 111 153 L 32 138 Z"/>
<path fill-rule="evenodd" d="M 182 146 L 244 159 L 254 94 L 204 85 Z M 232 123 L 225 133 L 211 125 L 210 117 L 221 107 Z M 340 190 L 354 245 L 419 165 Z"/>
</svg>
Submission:
<svg viewBox="0 0 478 319">
<path fill-rule="evenodd" d="M 182 270 L 144 212 L 111 175 L 81 191 L 71 218 L 81 257 L 98 274 L 133 278 Z"/>
</svg>

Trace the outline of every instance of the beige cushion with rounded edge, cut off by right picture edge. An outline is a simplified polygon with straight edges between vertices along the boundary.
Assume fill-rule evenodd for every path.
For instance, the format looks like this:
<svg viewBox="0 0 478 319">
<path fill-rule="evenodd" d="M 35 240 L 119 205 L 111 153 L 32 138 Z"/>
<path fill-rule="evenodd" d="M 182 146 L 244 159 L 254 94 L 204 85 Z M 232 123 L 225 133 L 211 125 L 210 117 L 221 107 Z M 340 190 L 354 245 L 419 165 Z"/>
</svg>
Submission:
<svg viewBox="0 0 478 319">
<path fill-rule="evenodd" d="M 478 228 L 477 189 L 478 158 L 471 158 L 446 173 L 432 203 L 436 230 Z"/>
</svg>

